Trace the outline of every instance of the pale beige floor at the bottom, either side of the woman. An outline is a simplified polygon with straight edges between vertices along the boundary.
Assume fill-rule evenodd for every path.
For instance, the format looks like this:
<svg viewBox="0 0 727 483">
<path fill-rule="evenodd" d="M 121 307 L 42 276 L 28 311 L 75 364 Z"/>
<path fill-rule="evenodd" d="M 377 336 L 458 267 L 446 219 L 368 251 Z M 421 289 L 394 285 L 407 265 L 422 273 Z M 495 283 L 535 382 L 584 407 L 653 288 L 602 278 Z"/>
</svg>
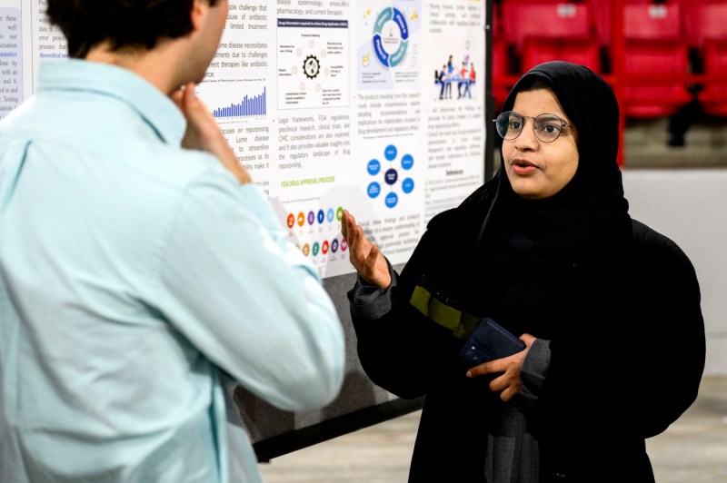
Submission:
<svg viewBox="0 0 727 483">
<path fill-rule="evenodd" d="M 406 481 L 419 411 L 260 465 L 265 483 Z M 706 377 L 682 418 L 649 439 L 658 483 L 727 481 L 727 376 Z"/>
</svg>

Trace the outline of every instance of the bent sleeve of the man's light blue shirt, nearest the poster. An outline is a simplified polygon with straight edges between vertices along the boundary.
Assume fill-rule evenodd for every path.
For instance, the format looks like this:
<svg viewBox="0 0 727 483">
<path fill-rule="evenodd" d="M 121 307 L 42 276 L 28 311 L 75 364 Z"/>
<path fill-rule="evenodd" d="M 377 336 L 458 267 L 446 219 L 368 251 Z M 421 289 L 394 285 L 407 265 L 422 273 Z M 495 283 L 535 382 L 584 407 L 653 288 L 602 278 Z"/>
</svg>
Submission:
<svg viewBox="0 0 727 483">
<path fill-rule="evenodd" d="M 344 377 L 341 322 L 256 186 L 200 176 L 162 244 L 159 308 L 196 349 L 280 409 L 334 399 Z"/>
</svg>

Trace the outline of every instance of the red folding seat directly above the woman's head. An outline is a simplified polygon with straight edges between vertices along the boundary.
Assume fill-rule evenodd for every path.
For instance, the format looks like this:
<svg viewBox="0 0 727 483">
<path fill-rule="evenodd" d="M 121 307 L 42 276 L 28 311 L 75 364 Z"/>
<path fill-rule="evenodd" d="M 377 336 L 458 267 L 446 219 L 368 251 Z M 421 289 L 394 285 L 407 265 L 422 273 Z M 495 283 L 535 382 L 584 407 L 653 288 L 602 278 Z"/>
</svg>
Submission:
<svg viewBox="0 0 727 483">
<path fill-rule="evenodd" d="M 521 72 L 564 60 L 600 72 L 599 44 L 587 2 L 503 0 L 503 30 L 513 43 Z"/>
</svg>

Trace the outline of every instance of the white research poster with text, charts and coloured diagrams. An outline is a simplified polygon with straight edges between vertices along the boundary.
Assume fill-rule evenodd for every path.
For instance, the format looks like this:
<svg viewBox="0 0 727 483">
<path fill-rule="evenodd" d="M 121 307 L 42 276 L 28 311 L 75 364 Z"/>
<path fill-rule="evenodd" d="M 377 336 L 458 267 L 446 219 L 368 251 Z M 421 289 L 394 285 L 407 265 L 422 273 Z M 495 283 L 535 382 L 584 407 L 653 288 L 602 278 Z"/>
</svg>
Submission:
<svg viewBox="0 0 727 483">
<path fill-rule="evenodd" d="M 45 0 L 0 0 L 0 118 L 66 56 Z M 197 94 L 291 241 L 353 271 L 344 209 L 394 264 L 484 181 L 482 0 L 229 0 Z"/>
</svg>

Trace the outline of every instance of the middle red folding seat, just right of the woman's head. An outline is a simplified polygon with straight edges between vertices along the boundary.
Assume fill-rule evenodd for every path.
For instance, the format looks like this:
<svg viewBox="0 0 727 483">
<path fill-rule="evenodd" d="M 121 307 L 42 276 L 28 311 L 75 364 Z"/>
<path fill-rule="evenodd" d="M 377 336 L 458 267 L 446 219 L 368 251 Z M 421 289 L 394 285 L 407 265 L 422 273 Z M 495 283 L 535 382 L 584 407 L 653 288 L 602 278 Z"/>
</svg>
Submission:
<svg viewBox="0 0 727 483">
<path fill-rule="evenodd" d="M 627 116 L 658 117 L 675 113 L 692 99 L 682 80 L 688 48 L 682 34 L 680 4 L 627 0 L 623 13 L 626 74 L 651 74 L 651 83 L 629 83 L 623 90 Z"/>
</svg>

